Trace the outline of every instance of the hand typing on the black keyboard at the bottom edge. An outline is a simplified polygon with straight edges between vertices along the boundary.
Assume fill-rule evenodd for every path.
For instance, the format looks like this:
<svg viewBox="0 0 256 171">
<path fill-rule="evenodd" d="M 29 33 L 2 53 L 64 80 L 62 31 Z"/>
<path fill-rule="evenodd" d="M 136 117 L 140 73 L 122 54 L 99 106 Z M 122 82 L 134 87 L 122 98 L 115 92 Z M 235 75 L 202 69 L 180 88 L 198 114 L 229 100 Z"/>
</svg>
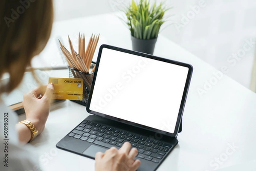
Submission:
<svg viewBox="0 0 256 171">
<path fill-rule="evenodd" d="M 95 171 L 136 171 L 140 166 L 140 160 L 134 160 L 138 151 L 130 149 L 131 144 L 125 142 L 119 150 L 111 147 L 105 154 L 96 153 Z"/>
</svg>

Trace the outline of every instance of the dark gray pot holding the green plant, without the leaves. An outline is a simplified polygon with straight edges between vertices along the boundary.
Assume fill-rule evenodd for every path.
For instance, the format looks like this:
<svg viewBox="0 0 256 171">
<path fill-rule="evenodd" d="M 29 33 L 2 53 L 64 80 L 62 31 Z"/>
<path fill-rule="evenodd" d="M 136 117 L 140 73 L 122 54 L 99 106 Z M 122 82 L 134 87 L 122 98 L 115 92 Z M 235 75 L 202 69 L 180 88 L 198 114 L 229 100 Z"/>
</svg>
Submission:
<svg viewBox="0 0 256 171">
<path fill-rule="evenodd" d="M 144 52 L 144 53 L 153 55 L 157 38 L 143 40 L 143 39 L 137 39 L 131 36 L 131 42 L 132 42 L 132 49 L 134 51 Z"/>
</svg>

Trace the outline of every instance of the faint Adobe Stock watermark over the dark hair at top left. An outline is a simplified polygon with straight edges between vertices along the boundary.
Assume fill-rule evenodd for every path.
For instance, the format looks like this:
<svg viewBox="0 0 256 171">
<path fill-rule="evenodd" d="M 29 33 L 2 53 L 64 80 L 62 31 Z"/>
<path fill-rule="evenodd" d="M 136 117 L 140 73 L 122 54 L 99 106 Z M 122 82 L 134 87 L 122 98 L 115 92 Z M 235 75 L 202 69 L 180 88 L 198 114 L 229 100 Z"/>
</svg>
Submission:
<svg viewBox="0 0 256 171">
<path fill-rule="evenodd" d="M 11 16 L 3 17 L 4 21 L 6 22 L 6 25 L 10 27 L 10 24 L 14 23 L 15 20 L 17 20 L 20 17 L 20 15 L 23 14 L 26 11 L 26 9 L 30 7 L 30 4 L 35 1 L 36 0 L 20 0 L 20 6 L 18 6 L 17 9 L 11 9 Z"/>
</svg>

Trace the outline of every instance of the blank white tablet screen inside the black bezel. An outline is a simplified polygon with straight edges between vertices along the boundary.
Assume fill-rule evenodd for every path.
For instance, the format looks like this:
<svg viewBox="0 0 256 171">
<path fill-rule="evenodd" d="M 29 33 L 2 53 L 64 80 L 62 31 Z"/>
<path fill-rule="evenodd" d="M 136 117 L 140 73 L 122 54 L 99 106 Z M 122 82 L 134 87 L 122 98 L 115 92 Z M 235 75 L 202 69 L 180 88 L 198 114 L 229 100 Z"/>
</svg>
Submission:
<svg viewBox="0 0 256 171">
<path fill-rule="evenodd" d="M 189 69 L 103 48 L 90 110 L 174 133 Z"/>
</svg>

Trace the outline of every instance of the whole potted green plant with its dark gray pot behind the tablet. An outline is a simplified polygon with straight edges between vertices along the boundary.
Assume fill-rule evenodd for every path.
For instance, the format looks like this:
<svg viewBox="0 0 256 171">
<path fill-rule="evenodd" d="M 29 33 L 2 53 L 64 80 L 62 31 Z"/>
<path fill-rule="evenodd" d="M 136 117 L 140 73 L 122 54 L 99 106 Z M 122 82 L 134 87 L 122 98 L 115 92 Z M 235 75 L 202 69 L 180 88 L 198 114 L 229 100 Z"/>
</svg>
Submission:
<svg viewBox="0 0 256 171">
<path fill-rule="evenodd" d="M 160 27 L 165 22 L 163 16 L 168 9 L 163 3 L 150 5 L 148 0 L 140 0 L 124 10 L 125 23 L 131 31 L 132 49 L 153 54 Z"/>
</svg>

